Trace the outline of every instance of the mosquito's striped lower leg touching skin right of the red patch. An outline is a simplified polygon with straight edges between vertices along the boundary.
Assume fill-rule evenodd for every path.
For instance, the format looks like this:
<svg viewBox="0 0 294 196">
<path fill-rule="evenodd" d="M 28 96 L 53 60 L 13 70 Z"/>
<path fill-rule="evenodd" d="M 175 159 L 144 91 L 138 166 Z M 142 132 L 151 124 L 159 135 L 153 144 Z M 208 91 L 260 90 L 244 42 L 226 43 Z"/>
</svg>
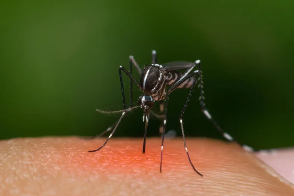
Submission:
<svg viewBox="0 0 294 196">
<path fill-rule="evenodd" d="M 194 88 L 194 86 L 195 86 L 195 84 L 196 84 L 197 76 L 198 76 L 198 75 L 199 75 L 199 74 L 198 74 L 198 72 L 197 72 L 196 78 L 194 79 L 194 82 L 193 82 L 193 84 L 192 84 L 192 86 L 191 86 L 191 89 L 190 89 L 190 92 L 189 92 L 189 94 L 188 94 L 188 97 L 187 97 L 187 100 L 186 100 L 186 102 L 185 102 L 185 105 L 184 105 L 184 107 L 183 107 L 183 109 L 182 109 L 182 111 L 181 111 L 181 114 L 180 114 L 180 124 L 181 124 L 181 129 L 182 129 L 182 135 L 183 135 L 184 147 L 185 147 L 186 154 L 187 154 L 187 156 L 188 156 L 189 162 L 190 162 L 190 164 L 191 164 L 193 170 L 194 170 L 197 174 L 199 174 L 200 176 L 203 176 L 201 173 L 199 173 L 199 172 L 195 169 L 195 167 L 194 167 L 194 165 L 193 165 L 193 163 L 192 163 L 192 161 L 191 161 L 191 158 L 190 158 L 190 155 L 189 155 L 189 152 L 188 152 L 188 147 L 187 147 L 187 145 L 186 145 L 186 138 L 185 138 L 185 132 L 184 132 L 184 125 L 183 125 L 183 115 L 184 115 L 185 110 L 186 110 L 186 108 L 187 108 L 187 105 L 188 105 L 188 102 L 189 102 L 189 100 L 190 100 L 190 97 L 192 96 L 193 88 Z"/>
</svg>

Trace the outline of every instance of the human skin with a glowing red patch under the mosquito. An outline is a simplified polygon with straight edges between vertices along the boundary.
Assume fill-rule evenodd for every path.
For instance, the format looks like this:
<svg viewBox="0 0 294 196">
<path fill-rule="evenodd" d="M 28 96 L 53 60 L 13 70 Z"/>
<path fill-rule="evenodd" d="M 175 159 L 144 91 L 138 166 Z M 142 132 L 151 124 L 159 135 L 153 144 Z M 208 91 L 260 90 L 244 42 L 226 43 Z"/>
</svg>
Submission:
<svg viewBox="0 0 294 196">
<path fill-rule="evenodd" d="M 23 138 L 0 141 L 0 196 L 294 196 L 294 186 L 233 143 L 187 138 Z"/>
</svg>

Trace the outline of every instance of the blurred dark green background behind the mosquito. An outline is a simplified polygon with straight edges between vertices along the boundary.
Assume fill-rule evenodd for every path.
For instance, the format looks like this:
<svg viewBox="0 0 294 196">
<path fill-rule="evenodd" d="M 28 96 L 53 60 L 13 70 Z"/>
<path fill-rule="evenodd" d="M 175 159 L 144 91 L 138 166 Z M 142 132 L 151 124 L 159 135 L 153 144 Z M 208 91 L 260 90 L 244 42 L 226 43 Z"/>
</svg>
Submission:
<svg viewBox="0 0 294 196">
<path fill-rule="evenodd" d="M 129 55 L 148 64 L 156 49 L 159 63 L 201 60 L 206 105 L 237 141 L 294 146 L 293 10 L 290 0 L 2 1 L 0 139 L 101 133 L 118 116 L 95 109 L 123 108 L 119 66 L 128 68 Z M 167 129 L 180 137 L 188 92 L 169 102 Z M 221 139 L 198 96 L 186 135 Z M 142 114 L 127 116 L 115 136 L 143 137 Z M 147 135 L 159 125 L 150 121 Z"/>
</svg>

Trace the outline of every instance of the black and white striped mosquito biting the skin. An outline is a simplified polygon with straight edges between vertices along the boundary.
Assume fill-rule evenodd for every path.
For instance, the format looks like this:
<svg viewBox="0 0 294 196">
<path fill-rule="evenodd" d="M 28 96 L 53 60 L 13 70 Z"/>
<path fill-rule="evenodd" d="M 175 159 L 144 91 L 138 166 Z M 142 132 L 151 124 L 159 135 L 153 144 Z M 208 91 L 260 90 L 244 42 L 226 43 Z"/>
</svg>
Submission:
<svg viewBox="0 0 294 196">
<path fill-rule="evenodd" d="M 228 133 L 225 133 L 221 127 L 216 123 L 216 121 L 213 120 L 210 113 L 207 111 L 204 103 L 204 92 L 203 92 L 203 81 L 202 81 L 202 72 L 200 67 L 200 60 L 196 60 L 195 62 L 186 62 L 186 61 L 175 61 L 171 63 L 166 63 L 163 65 L 157 64 L 157 56 L 156 51 L 152 50 L 152 62 L 150 65 L 147 65 L 144 67 L 143 71 L 135 61 L 133 56 L 129 56 L 129 63 L 130 68 L 129 71 L 127 71 L 123 66 L 120 66 L 119 73 L 120 73 L 120 81 L 121 81 L 121 88 L 122 88 L 122 96 L 123 96 L 123 110 L 119 111 L 103 111 L 103 110 L 97 110 L 101 113 L 122 113 L 120 119 L 111 127 L 107 128 L 102 134 L 112 131 L 109 137 L 106 139 L 104 144 L 95 150 L 89 150 L 89 152 L 96 152 L 100 150 L 102 147 L 104 147 L 109 139 L 113 136 L 115 130 L 117 129 L 119 123 L 121 123 L 123 117 L 127 115 L 131 110 L 141 107 L 144 111 L 143 114 L 143 122 L 145 121 L 145 133 L 144 133 L 144 141 L 143 141 L 143 153 L 145 153 L 145 147 L 146 147 L 146 137 L 147 137 L 147 126 L 149 122 L 149 116 L 150 113 L 154 115 L 155 117 L 162 119 L 162 126 L 161 126 L 161 159 L 160 159 L 160 172 L 162 172 L 162 156 L 163 156 L 163 143 L 164 143 L 164 136 L 166 131 L 166 123 L 167 123 L 167 108 L 168 108 L 168 100 L 169 95 L 174 91 L 176 88 L 190 88 L 188 97 L 186 99 L 186 102 L 184 104 L 184 107 L 180 113 L 180 124 L 181 124 L 181 130 L 183 135 L 183 143 L 184 148 L 186 150 L 186 154 L 188 156 L 188 160 L 193 168 L 193 170 L 199 174 L 200 176 L 203 176 L 200 172 L 198 172 L 188 153 L 188 148 L 186 145 L 186 139 L 185 139 L 185 133 L 184 133 L 184 126 L 183 126 L 183 115 L 185 113 L 187 104 L 190 100 L 190 97 L 192 96 L 192 92 L 194 89 L 194 86 L 196 85 L 196 82 L 198 81 L 198 88 L 200 89 L 200 106 L 201 111 L 203 114 L 207 117 L 209 121 L 211 121 L 217 128 L 217 130 L 222 134 L 222 136 L 227 139 L 228 141 L 234 141 L 233 137 L 230 136 Z M 140 74 L 140 82 L 138 83 L 136 79 L 132 75 L 132 67 L 135 66 L 137 69 L 137 72 Z M 198 67 L 197 70 L 194 70 L 196 67 Z M 186 70 L 184 73 L 179 72 L 179 70 Z M 126 73 L 126 75 L 130 78 L 130 103 L 133 102 L 133 86 L 132 82 L 134 82 L 137 87 L 143 92 L 143 95 L 138 99 L 138 106 L 130 106 L 126 107 L 125 103 L 125 96 L 124 96 L 124 90 L 123 90 L 123 77 L 122 77 L 122 71 Z M 154 102 L 159 101 L 160 102 L 160 111 L 163 113 L 163 118 L 160 117 L 160 115 L 155 114 L 151 108 L 154 106 Z M 165 102 L 165 103 L 164 103 Z M 101 134 L 100 134 L 101 135 Z M 242 145 L 241 145 L 242 146 Z M 243 145 L 243 148 L 247 151 L 253 151 L 251 147 Z"/>
</svg>

